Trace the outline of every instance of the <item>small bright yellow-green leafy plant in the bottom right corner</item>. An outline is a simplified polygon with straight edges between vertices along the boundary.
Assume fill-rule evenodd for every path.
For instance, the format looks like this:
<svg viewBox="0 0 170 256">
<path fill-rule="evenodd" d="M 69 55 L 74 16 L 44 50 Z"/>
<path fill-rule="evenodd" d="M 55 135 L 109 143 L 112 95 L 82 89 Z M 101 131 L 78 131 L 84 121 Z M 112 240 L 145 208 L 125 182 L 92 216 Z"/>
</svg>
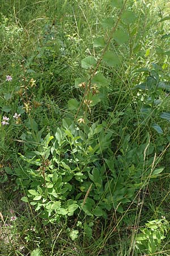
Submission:
<svg viewBox="0 0 170 256">
<path fill-rule="evenodd" d="M 134 245 L 138 253 L 154 254 L 160 249 L 162 240 L 166 237 L 169 223 L 165 218 L 148 221 L 141 233 L 137 234 Z"/>
</svg>

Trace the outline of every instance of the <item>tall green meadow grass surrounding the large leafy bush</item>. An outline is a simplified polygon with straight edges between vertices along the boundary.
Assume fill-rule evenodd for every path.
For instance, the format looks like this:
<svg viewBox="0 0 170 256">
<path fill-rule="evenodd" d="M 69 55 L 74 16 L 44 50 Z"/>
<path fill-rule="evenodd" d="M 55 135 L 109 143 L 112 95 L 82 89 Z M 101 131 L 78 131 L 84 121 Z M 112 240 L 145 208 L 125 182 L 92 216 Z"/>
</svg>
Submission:
<svg viewBox="0 0 170 256">
<path fill-rule="evenodd" d="M 25 146 L 24 136 L 30 133 L 27 113 L 21 111 L 24 125 L 10 123 L 7 129 L 1 126 L 0 255 L 142 255 L 134 247 L 134 238 L 140 228 L 147 221 L 161 219 L 162 216 L 169 220 L 169 127 L 167 121 L 157 114 L 169 111 L 169 97 L 164 91 L 156 96 L 163 103 L 161 106 L 154 105 L 143 124 L 141 109 L 144 109 L 148 95 L 140 90 L 137 92 L 134 87 L 146 80 L 146 73 L 138 73 L 138 69 L 152 69 L 152 63 L 163 67 L 159 71 L 160 76 L 169 81 L 169 57 L 161 55 L 158 48 L 168 51 L 168 38 L 162 40 L 162 35 L 168 34 L 169 20 L 161 23 L 159 15 L 168 16 L 170 6 L 167 1 L 161 0 L 129 0 L 128 5 L 138 17 L 137 23 L 128 28 L 133 38 L 129 44 L 122 46 L 117 46 L 115 42 L 110 44 L 109 49 L 116 49 L 122 64 L 120 68 L 100 65 L 99 71 L 110 79 L 111 86 L 90 111 L 88 119 L 91 123 L 99 119 L 105 123 L 105 130 L 113 133 L 114 141 L 110 149 L 113 159 L 123 152 L 123 144 L 127 143 L 127 148 L 133 150 L 136 145 L 147 141 L 142 175 L 145 176 L 147 171 L 145 164 L 154 169 L 159 156 L 165 166 L 164 173 L 152 182 L 150 176 L 146 177 L 145 185 L 136 192 L 134 200 L 123 212 L 114 209 L 109 212 L 108 219 L 93 218 L 91 240 L 82 230 L 79 237 L 72 241 L 68 236 L 68 227 L 76 225 L 77 216 L 66 218 L 59 224 L 43 225 L 32 205 L 20 200 L 25 192 L 20 189 L 22 181 L 20 186 L 15 183 L 14 170 L 19 166 L 23 170 L 27 168 L 18 152 L 25 154 L 28 145 Z M 101 26 L 101 22 L 107 16 L 116 18 L 117 11 L 108 6 L 108 1 L 93 0 L 1 0 L 1 6 L 1 119 L 4 115 L 12 117 L 23 108 L 18 92 L 24 77 L 24 63 L 29 79 L 36 80 L 36 87 L 32 89 L 32 94 L 28 94 L 35 101 L 32 119 L 38 123 L 39 130 L 43 129 L 41 135 L 45 137 L 49 132 L 56 132 L 63 117 L 71 115 L 67 102 L 71 98 L 79 100 L 83 97 L 83 92 L 74 86 L 77 77 L 87 76 L 88 71 L 81 67 L 81 60 L 90 55 L 97 57 L 101 53 L 100 48 L 94 47 L 94 38 L 103 35 L 109 38 L 109 30 Z M 12 76 L 11 82 L 5 81 L 7 75 Z M 159 123 L 164 134 L 156 134 L 151 123 Z M 35 132 L 35 137 L 37 134 Z M 32 143 L 39 141 L 35 138 Z M 156 152 L 151 163 L 147 151 L 150 145 Z M 128 158 L 124 157 L 126 169 L 129 168 L 126 164 Z M 81 221 L 86 224 L 88 216 L 85 214 Z M 159 251 L 152 255 L 169 253 L 168 229 Z"/>
</svg>

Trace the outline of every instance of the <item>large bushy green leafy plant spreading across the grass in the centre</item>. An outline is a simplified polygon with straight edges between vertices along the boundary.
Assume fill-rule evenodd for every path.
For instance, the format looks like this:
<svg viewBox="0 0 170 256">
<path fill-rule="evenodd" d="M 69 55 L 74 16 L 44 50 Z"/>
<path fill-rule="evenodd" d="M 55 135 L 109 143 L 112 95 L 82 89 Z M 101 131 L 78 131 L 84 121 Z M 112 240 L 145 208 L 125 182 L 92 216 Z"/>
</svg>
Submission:
<svg viewBox="0 0 170 256">
<path fill-rule="evenodd" d="M 155 159 L 149 138 L 131 147 L 129 139 L 124 139 L 115 158 L 112 150 L 107 152 L 112 133 L 103 125 L 75 126 L 71 119 L 63 119 L 54 136 L 40 138 L 38 145 L 25 141 L 27 156 L 21 156 L 28 164 L 16 172 L 27 195 L 22 200 L 34 205 L 45 222 L 73 216 L 78 209 L 104 218 L 111 209 L 122 213 L 135 191 L 164 169 L 155 168 L 161 158 Z"/>
</svg>

